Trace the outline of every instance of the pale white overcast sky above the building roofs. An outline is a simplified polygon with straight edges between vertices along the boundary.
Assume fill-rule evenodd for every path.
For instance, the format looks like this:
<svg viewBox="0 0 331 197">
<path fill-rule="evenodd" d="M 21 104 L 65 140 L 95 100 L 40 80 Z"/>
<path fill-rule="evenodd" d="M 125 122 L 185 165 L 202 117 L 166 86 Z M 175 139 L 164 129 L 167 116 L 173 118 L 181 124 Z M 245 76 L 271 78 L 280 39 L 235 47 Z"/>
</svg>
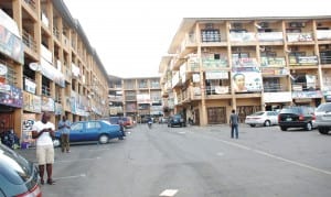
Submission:
<svg viewBox="0 0 331 197">
<path fill-rule="evenodd" d="M 108 75 L 159 76 L 183 18 L 331 15 L 327 0 L 64 0 Z"/>
</svg>

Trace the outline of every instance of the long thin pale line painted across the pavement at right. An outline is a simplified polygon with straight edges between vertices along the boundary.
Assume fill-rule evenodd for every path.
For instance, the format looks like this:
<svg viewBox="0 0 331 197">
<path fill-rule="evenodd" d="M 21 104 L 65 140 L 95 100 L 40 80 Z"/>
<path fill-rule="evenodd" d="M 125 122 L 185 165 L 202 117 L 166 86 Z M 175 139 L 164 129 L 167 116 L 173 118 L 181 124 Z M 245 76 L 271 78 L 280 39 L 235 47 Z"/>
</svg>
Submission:
<svg viewBox="0 0 331 197">
<path fill-rule="evenodd" d="M 300 166 L 300 167 L 305 167 L 305 168 L 308 168 L 308 169 L 311 169 L 311 171 L 316 171 L 316 172 L 319 172 L 319 173 L 331 175 L 330 171 L 325 171 L 325 169 L 321 169 L 321 168 L 318 168 L 318 167 L 313 167 L 313 166 L 310 166 L 310 165 L 307 165 L 307 164 L 302 164 L 300 162 L 287 160 L 287 158 L 284 158 L 284 157 L 280 157 L 280 156 L 277 156 L 277 155 L 264 152 L 264 151 L 254 150 L 254 149 L 248 147 L 246 145 L 237 144 L 237 143 L 229 142 L 229 141 L 226 141 L 226 140 L 220 140 L 220 141 L 223 142 L 223 143 L 226 143 L 228 145 L 233 145 L 233 146 L 239 147 L 239 149 L 244 149 L 244 150 L 248 150 L 248 151 L 254 151 L 257 154 L 265 155 L 265 156 L 268 156 L 270 158 L 276 158 L 276 160 L 279 160 L 279 161 L 282 161 L 282 162 L 287 162 L 287 163 L 290 163 L 290 164 L 293 164 L 293 165 L 297 165 L 297 166 Z"/>
</svg>

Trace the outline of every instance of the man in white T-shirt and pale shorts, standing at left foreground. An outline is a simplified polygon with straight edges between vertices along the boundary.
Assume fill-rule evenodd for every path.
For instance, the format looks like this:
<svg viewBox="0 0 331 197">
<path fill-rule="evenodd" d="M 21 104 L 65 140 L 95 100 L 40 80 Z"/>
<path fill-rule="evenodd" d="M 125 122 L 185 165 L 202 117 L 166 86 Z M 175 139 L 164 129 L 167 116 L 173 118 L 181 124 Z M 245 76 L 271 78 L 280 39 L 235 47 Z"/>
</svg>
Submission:
<svg viewBox="0 0 331 197">
<path fill-rule="evenodd" d="M 36 121 L 32 127 L 32 138 L 36 141 L 36 160 L 39 164 L 40 182 L 44 185 L 44 169 L 46 165 L 47 184 L 54 185 L 55 180 L 52 178 L 53 164 L 54 164 L 54 130 L 55 127 L 50 122 L 51 114 L 44 112 L 42 119 Z"/>
</svg>

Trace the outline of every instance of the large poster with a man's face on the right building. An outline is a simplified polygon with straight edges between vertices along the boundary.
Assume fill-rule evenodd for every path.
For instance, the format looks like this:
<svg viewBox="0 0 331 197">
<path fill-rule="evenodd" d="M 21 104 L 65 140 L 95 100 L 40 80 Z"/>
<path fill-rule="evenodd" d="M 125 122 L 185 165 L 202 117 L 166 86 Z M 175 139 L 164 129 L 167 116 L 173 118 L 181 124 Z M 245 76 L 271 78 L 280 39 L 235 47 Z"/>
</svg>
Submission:
<svg viewBox="0 0 331 197">
<path fill-rule="evenodd" d="M 256 92 L 263 90 L 261 74 L 258 69 L 234 70 L 232 79 L 235 92 Z"/>
</svg>

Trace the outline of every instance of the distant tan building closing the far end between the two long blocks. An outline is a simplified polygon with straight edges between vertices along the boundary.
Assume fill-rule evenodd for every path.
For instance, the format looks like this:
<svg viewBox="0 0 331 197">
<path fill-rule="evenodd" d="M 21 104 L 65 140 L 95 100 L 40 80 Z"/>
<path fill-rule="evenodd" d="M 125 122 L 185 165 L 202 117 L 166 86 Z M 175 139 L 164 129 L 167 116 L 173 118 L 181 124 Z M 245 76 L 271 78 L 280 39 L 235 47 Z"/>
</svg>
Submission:
<svg viewBox="0 0 331 197">
<path fill-rule="evenodd" d="M 110 116 L 131 117 L 137 122 L 164 116 L 160 77 L 109 76 L 109 81 Z"/>
</svg>

